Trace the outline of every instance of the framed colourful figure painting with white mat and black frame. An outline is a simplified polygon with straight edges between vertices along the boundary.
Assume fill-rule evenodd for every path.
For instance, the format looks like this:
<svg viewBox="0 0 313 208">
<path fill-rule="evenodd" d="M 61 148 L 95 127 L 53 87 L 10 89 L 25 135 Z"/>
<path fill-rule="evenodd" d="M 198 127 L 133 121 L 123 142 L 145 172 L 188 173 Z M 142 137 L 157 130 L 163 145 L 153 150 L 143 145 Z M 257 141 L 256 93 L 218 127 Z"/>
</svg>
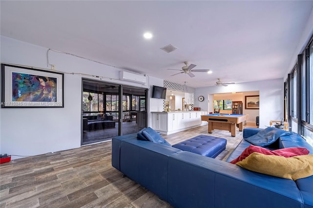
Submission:
<svg viewBox="0 0 313 208">
<path fill-rule="evenodd" d="M 64 107 L 64 74 L 1 64 L 1 107 Z"/>
</svg>

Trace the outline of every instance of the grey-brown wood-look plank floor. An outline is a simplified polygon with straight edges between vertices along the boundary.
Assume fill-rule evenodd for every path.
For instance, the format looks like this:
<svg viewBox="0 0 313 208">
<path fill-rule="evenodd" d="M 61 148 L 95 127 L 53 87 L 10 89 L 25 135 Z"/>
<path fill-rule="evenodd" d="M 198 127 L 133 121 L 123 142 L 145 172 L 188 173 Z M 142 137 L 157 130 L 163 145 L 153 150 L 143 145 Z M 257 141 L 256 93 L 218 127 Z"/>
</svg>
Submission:
<svg viewBox="0 0 313 208">
<path fill-rule="evenodd" d="M 255 127 L 254 125 L 246 125 Z M 237 129 L 238 130 L 238 129 Z M 163 137 L 174 145 L 207 125 Z M 223 160 L 242 139 L 236 131 L 214 130 L 227 139 Z M 229 135 L 229 136 L 228 136 Z M 167 202 L 134 183 L 111 165 L 111 141 L 17 159 L 0 165 L 0 208 L 166 208 Z"/>
</svg>

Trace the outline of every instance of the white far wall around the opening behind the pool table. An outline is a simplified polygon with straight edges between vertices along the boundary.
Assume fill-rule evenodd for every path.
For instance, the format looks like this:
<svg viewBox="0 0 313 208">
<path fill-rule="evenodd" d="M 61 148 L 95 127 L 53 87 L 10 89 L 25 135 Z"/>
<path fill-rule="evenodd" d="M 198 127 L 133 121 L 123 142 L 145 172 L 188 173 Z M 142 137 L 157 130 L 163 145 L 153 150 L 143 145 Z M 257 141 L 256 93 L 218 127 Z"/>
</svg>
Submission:
<svg viewBox="0 0 313 208">
<path fill-rule="evenodd" d="M 231 93 L 231 92 L 245 92 L 245 91 L 259 91 L 260 95 L 260 128 L 266 128 L 269 121 L 279 121 L 284 117 L 284 82 L 283 79 L 265 80 L 260 82 L 238 83 L 228 85 L 226 87 L 210 86 L 197 88 L 197 98 L 202 95 L 204 101 L 199 102 L 196 99 L 196 106 L 201 107 L 201 110 L 208 110 L 208 104 L 213 103 L 212 94 Z M 247 94 L 246 94 L 247 95 Z M 245 96 L 245 95 L 243 95 Z M 208 100 L 208 98 L 211 100 Z M 213 106 L 213 104 L 212 104 Z M 243 113 L 251 113 L 243 109 Z M 249 115 L 255 121 L 256 115 Z M 252 121 L 252 119 L 251 119 Z"/>
</svg>

